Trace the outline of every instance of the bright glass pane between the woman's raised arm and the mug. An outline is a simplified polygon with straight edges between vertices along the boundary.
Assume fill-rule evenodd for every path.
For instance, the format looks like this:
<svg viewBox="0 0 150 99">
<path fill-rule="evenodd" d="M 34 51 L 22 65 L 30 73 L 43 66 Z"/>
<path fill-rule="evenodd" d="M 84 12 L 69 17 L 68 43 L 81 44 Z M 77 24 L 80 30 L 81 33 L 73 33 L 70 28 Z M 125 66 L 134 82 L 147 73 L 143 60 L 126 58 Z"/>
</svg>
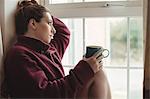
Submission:
<svg viewBox="0 0 150 99">
<path fill-rule="evenodd" d="M 63 65 L 75 65 L 83 56 L 83 21 L 82 19 L 62 19 L 71 32 L 70 43 L 64 54 Z"/>
</svg>

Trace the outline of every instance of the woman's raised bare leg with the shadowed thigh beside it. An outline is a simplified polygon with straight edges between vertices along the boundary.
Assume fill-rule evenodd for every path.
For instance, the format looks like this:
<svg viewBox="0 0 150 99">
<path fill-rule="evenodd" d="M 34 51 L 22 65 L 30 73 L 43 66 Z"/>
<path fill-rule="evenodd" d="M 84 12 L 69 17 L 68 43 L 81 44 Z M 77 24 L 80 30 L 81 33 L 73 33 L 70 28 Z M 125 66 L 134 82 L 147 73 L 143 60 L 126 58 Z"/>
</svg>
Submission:
<svg viewBox="0 0 150 99">
<path fill-rule="evenodd" d="M 98 71 L 94 77 L 78 91 L 77 97 L 81 99 L 111 99 L 110 88 L 104 71 Z"/>
</svg>

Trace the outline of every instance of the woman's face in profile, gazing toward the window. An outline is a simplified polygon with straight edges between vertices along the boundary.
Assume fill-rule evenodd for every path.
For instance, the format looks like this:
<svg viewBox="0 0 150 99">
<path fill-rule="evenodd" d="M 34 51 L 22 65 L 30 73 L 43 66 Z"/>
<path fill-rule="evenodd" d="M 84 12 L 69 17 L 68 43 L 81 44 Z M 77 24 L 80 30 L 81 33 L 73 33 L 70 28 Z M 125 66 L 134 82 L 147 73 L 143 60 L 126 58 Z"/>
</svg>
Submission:
<svg viewBox="0 0 150 99">
<path fill-rule="evenodd" d="M 44 17 L 40 22 L 36 23 L 36 26 L 36 37 L 45 43 L 50 43 L 56 32 L 50 13 L 44 13 Z"/>
</svg>

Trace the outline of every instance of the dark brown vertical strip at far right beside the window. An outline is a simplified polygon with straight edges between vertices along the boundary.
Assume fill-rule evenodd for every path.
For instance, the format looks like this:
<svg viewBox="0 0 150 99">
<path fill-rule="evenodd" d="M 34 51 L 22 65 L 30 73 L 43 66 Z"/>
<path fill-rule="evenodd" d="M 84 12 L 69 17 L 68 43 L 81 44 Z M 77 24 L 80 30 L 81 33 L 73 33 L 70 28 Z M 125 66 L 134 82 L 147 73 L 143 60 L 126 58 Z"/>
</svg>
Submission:
<svg viewBox="0 0 150 99">
<path fill-rule="evenodd" d="M 150 99 L 150 0 L 143 2 L 145 37 L 143 99 Z"/>
</svg>

